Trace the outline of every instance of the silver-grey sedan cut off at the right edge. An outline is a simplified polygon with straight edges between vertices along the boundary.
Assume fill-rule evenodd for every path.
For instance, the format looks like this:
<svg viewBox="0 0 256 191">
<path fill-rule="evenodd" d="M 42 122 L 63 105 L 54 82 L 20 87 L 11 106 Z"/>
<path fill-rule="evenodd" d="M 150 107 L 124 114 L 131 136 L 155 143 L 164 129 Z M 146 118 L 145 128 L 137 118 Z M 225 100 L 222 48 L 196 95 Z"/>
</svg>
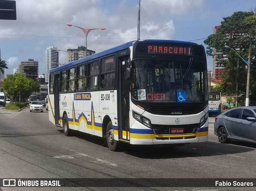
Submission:
<svg viewBox="0 0 256 191">
<path fill-rule="evenodd" d="M 256 106 L 230 109 L 215 118 L 214 134 L 221 143 L 242 140 L 256 143 Z"/>
</svg>

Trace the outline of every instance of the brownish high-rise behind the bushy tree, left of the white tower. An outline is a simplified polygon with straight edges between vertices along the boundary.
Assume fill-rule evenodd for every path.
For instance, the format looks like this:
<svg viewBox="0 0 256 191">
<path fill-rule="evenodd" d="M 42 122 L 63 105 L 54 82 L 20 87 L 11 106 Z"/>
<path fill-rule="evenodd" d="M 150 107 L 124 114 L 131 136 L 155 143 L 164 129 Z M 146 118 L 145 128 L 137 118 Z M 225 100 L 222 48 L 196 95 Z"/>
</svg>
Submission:
<svg viewBox="0 0 256 191">
<path fill-rule="evenodd" d="M 20 62 L 20 73 L 27 78 L 36 80 L 38 78 L 38 61 L 28 59 L 28 61 Z"/>
</svg>

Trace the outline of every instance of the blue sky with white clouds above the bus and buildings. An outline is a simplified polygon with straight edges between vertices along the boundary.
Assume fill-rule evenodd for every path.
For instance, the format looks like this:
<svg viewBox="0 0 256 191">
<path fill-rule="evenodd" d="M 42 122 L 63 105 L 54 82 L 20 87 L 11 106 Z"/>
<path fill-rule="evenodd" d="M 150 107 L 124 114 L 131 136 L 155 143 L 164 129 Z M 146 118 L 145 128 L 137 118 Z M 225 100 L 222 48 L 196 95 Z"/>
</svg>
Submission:
<svg viewBox="0 0 256 191">
<path fill-rule="evenodd" d="M 238 11 L 254 11 L 255 0 L 140 0 L 140 39 L 171 39 L 204 45 L 223 17 Z M 21 61 L 39 62 L 39 75 L 45 73 L 44 51 L 85 46 L 82 28 L 93 30 L 87 48 L 96 53 L 137 39 L 138 0 L 16 0 L 17 20 L 0 20 L 1 59 L 9 69 Z M 59 63 L 68 54 L 59 52 Z M 212 57 L 207 56 L 208 69 Z"/>
</svg>

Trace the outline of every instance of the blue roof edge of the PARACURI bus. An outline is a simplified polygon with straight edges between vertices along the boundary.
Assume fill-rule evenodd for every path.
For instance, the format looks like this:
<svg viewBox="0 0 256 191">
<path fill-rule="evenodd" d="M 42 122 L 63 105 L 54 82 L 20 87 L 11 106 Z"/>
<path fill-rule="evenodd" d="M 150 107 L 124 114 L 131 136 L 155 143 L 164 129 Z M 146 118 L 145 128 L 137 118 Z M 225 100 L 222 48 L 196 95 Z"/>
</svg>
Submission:
<svg viewBox="0 0 256 191">
<path fill-rule="evenodd" d="M 166 42 L 166 43 L 197 44 L 197 43 L 193 43 L 193 42 L 176 41 L 176 40 L 147 39 L 147 40 L 140 40 L 140 41 L 144 41 L 144 42 Z M 72 66 L 78 65 L 78 64 L 80 64 L 80 63 L 84 63 L 84 62 L 86 62 L 86 61 L 90 61 L 90 60 L 92 60 L 92 59 L 96 59 L 96 58 L 98 58 L 98 57 L 102 57 L 102 56 L 104 56 L 104 55 L 108 55 L 108 54 L 111 54 L 111 53 L 114 53 L 114 52 L 117 52 L 117 51 L 126 49 L 126 48 L 132 46 L 134 42 L 135 42 L 135 41 L 130 41 L 130 42 L 127 42 L 127 43 L 118 45 L 118 46 L 116 46 L 116 47 L 110 48 L 110 49 L 108 49 L 108 50 L 105 50 L 105 51 L 102 51 L 102 52 L 99 52 L 99 53 L 90 55 L 90 56 L 88 56 L 88 57 L 84 57 L 84 58 L 82 58 L 82 59 L 73 61 L 73 62 L 71 62 L 71 63 L 62 65 L 62 66 L 57 67 L 57 68 L 51 69 L 51 70 L 49 71 L 49 73 L 52 73 L 52 72 L 55 72 L 55 71 L 59 71 L 59 70 L 62 70 L 62 69 L 68 68 L 68 67 L 72 67 Z"/>
</svg>

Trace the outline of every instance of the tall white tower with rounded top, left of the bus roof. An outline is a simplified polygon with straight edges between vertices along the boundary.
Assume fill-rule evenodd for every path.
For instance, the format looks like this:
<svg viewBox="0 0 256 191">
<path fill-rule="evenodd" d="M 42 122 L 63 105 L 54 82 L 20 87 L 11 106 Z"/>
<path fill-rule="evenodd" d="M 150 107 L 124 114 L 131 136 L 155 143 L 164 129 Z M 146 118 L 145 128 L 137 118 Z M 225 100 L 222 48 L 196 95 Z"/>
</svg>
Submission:
<svg viewBox="0 0 256 191">
<path fill-rule="evenodd" d="M 49 70 L 58 67 L 59 53 L 57 47 L 50 46 L 45 50 L 45 82 L 49 81 Z"/>
</svg>

